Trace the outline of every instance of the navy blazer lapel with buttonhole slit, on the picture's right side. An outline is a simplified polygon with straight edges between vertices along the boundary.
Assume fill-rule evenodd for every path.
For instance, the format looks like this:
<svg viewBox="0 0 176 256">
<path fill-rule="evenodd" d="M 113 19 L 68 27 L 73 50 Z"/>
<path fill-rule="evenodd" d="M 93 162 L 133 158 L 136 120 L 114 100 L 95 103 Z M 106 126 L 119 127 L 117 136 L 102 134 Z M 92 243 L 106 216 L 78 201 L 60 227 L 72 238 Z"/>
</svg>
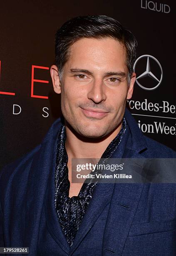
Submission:
<svg viewBox="0 0 176 256">
<path fill-rule="evenodd" d="M 129 125 L 130 135 L 123 158 L 144 158 L 140 152 L 147 148 L 146 140 L 127 109 L 125 117 Z M 142 170 L 143 166 L 141 165 L 140 168 Z M 122 254 L 143 187 L 144 183 L 115 184 L 104 231 L 103 256 Z"/>
</svg>

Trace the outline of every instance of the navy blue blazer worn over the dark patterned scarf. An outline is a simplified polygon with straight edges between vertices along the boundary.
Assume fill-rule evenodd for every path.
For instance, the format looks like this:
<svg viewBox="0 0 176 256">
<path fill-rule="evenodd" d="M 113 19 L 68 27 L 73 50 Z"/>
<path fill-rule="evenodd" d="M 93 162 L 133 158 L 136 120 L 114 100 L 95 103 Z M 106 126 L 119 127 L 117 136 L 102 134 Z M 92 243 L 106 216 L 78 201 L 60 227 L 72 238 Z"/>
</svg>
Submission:
<svg viewBox="0 0 176 256">
<path fill-rule="evenodd" d="M 125 117 L 113 158 L 176 158 L 141 133 L 129 110 Z M 176 184 L 97 184 L 69 247 L 54 206 L 60 125 L 56 120 L 39 146 L 0 172 L 0 246 L 29 247 L 31 256 L 176 255 Z"/>
</svg>

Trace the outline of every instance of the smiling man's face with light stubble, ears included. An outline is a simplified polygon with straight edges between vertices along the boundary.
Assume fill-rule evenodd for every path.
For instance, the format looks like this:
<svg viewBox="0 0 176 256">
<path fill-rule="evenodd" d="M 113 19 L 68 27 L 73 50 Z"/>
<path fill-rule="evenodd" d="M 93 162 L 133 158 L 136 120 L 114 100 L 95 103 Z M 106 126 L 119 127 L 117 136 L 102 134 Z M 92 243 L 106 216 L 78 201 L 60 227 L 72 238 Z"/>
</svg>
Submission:
<svg viewBox="0 0 176 256">
<path fill-rule="evenodd" d="M 118 41 L 82 38 L 70 47 L 62 81 L 51 71 L 54 90 L 61 92 L 64 118 L 79 135 L 101 138 L 121 125 L 135 81 L 134 74 L 127 83 L 125 60 Z"/>
</svg>

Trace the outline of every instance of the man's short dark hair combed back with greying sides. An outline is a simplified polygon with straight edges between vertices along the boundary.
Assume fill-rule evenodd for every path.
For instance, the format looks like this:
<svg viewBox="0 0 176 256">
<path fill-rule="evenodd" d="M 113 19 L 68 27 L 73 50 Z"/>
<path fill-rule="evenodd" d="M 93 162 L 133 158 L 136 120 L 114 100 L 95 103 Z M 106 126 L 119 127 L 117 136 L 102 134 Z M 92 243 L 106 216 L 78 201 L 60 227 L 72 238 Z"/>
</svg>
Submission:
<svg viewBox="0 0 176 256">
<path fill-rule="evenodd" d="M 64 64 L 69 59 L 72 44 L 82 38 L 113 38 L 123 44 L 126 49 L 126 67 L 128 82 L 133 73 L 136 59 L 137 41 L 135 36 L 114 18 L 105 15 L 79 16 L 65 22 L 58 29 L 55 38 L 55 64 L 62 79 Z"/>
</svg>

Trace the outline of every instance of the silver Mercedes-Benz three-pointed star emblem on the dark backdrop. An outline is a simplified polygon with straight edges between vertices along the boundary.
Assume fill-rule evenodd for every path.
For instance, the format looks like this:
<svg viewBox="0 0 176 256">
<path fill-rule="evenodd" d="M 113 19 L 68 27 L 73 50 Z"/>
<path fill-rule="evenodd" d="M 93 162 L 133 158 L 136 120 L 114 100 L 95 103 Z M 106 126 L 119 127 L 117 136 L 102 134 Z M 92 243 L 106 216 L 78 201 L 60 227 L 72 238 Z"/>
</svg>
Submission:
<svg viewBox="0 0 176 256">
<path fill-rule="evenodd" d="M 156 88 L 159 87 L 159 85 L 161 84 L 161 81 L 163 79 L 163 69 L 161 67 L 161 64 L 159 63 L 159 61 L 154 57 L 154 56 L 151 56 L 151 55 L 148 55 L 148 54 L 145 54 L 145 55 L 142 55 L 140 56 L 138 59 L 136 59 L 136 61 L 134 62 L 134 72 L 135 72 L 135 68 L 136 68 L 136 64 L 137 62 L 139 62 L 140 59 L 143 59 L 143 58 L 147 58 L 146 60 L 146 70 L 140 74 L 138 77 L 136 77 L 136 83 L 144 90 L 147 90 L 147 91 L 153 91 L 155 90 Z M 158 79 L 152 72 L 151 72 L 151 69 L 150 69 L 150 59 L 154 59 L 154 61 L 156 61 L 156 63 L 158 64 L 159 68 L 160 68 L 160 71 L 161 71 L 161 77 L 160 79 Z M 156 86 L 152 87 L 152 88 L 148 88 L 148 87 L 145 87 L 143 86 L 142 84 L 139 83 L 138 79 L 140 78 L 143 78 L 143 77 L 151 77 L 152 79 L 154 79 L 155 81 L 157 81 L 158 83 L 156 84 Z"/>
</svg>

